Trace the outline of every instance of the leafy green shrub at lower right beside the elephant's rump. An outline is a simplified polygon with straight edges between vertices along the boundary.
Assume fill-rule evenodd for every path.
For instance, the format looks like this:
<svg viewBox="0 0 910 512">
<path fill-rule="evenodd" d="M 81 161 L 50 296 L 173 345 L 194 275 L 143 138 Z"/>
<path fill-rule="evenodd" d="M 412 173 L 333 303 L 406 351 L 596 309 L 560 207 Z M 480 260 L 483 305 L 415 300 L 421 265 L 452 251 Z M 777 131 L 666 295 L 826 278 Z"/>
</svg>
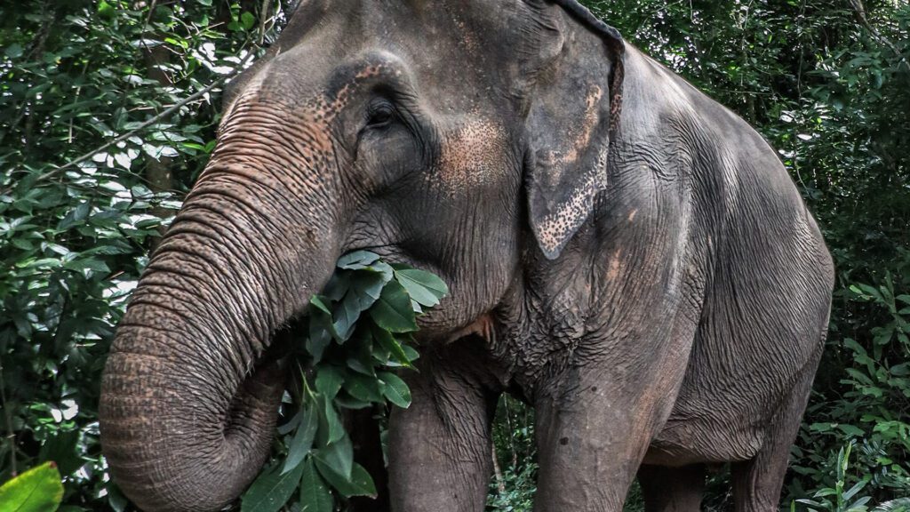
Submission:
<svg viewBox="0 0 910 512">
<path fill-rule="evenodd" d="M 849 442 L 855 445 L 855 468 L 864 475 L 866 490 L 876 499 L 906 496 L 910 493 L 910 295 L 895 292 L 895 282 L 886 273 L 877 285 L 853 284 L 841 293 L 844 299 L 859 306 L 871 306 L 867 319 L 877 318 L 879 325 L 870 327 L 869 339 L 844 337 L 831 347 L 832 356 L 844 357 L 844 374 L 840 383 L 843 394 L 834 401 L 814 404 L 810 409 L 817 421 L 804 425 L 801 447 L 794 471 L 814 488 L 834 488 L 837 474 L 832 468 L 840 464 L 828 445 Z M 840 452 L 838 452 L 840 453 Z M 820 492 L 820 491 L 816 491 Z M 794 496 L 810 494 L 803 490 Z"/>
</svg>

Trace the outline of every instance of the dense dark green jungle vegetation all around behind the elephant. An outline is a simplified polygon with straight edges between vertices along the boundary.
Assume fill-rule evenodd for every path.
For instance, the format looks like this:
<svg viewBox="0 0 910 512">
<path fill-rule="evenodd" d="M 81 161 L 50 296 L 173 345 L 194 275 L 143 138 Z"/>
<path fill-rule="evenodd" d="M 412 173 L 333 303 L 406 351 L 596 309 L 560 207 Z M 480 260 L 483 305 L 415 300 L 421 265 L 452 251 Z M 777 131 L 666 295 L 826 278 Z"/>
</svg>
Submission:
<svg viewBox="0 0 910 512">
<path fill-rule="evenodd" d="M 781 506 L 898 509 L 910 497 L 910 4 L 582 3 L 758 128 L 834 253 L 830 336 Z M 130 509 L 98 444 L 107 347 L 214 147 L 222 87 L 291 4 L 0 6 L 0 483 L 53 460 L 63 510 Z M 488 509 L 531 510 L 531 411 L 503 399 L 494 435 Z M 731 507 L 725 471 L 705 509 Z M 642 509 L 634 488 L 627 509 Z"/>
</svg>

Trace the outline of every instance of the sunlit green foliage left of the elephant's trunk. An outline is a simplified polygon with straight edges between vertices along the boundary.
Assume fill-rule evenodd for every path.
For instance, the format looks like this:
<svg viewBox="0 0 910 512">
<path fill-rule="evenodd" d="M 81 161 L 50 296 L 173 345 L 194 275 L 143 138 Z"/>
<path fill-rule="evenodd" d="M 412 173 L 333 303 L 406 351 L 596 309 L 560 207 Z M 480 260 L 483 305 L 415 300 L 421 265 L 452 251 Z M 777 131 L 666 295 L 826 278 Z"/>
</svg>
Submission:
<svg viewBox="0 0 910 512">
<path fill-rule="evenodd" d="M 64 509 L 126 507 L 107 485 L 96 420 L 113 328 L 214 146 L 223 79 L 285 12 L 212 0 L 0 7 L 0 482 L 53 460 Z"/>
</svg>

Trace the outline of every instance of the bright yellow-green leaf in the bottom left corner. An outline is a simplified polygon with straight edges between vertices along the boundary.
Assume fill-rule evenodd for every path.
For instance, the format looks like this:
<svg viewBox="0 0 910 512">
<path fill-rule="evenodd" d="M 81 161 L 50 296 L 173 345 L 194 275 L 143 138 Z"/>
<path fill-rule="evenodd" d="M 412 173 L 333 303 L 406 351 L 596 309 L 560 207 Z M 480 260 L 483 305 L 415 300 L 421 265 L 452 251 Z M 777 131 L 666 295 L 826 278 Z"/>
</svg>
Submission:
<svg viewBox="0 0 910 512">
<path fill-rule="evenodd" d="M 56 464 L 45 462 L 0 486 L 3 512 L 54 512 L 63 500 L 63 484 Z"/>
</svg>

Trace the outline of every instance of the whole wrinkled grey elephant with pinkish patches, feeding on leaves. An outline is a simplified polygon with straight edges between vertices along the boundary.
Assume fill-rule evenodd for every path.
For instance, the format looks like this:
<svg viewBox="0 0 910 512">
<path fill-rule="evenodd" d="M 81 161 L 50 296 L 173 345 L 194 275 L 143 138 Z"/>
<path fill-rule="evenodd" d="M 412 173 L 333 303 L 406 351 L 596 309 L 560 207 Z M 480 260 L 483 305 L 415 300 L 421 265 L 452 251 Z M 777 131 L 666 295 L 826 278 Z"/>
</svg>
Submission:
<svg viewBox="0 0 910 512">
<path fill-rule="evenodd" d="M 390 422 L 397 511 L 482 510 L 490 421 L 535 407 L 538 511 L 775 510 L 824 341 L 822 237 L 742 119 L 578 5 L 305 1 L 235 83 L 139 283 L 101 403 L 116 482 L 217 510 L 268 453 L 273 334 L 343 253 L 440 274 Z M 269 350 L 271 345 L 272 349 Z"/>
</svg>

